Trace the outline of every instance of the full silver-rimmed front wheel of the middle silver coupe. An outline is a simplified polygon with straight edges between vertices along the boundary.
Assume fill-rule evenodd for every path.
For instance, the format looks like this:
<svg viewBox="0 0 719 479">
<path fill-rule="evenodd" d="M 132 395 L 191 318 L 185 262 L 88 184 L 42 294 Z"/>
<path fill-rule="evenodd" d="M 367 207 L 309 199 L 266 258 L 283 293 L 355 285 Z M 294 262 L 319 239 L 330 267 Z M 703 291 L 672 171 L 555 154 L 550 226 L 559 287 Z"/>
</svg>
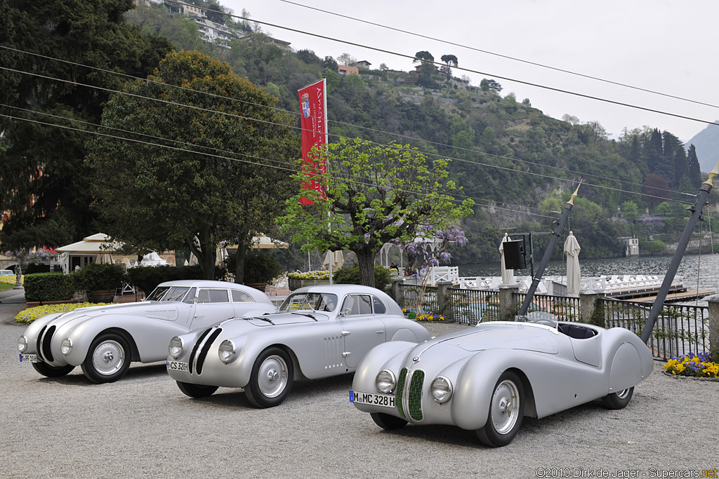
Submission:
<svg viewBox="0 0 719 479">
<path fill-rule="evenodd" d="M 282 348 L 273 346 L 257 356 L 244 394 L 257 407 L 277 406 L 292 389 L 293 378 L 290 356 Z"/>
</svg>

